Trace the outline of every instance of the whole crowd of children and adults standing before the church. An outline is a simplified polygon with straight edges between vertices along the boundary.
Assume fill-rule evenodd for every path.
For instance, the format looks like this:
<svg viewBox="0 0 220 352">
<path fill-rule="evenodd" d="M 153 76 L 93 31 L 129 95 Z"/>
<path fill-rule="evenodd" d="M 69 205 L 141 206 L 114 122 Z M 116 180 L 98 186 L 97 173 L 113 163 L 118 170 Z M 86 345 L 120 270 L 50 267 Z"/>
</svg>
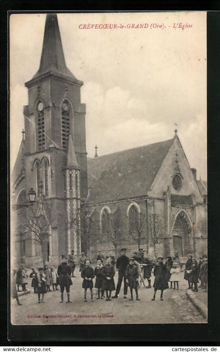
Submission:
<svg viewBox="0 0 220 352">
<path fill-rule="evenodd" d="M 87 302 L 87 290 L 90 291 L 90 299 L 93 302 L 93 279 L 95 279 L 95 288 L 97 289 L 96 299 L 104 299 L 111 301 L 112 298 L 118 298 L 121 290 L 122 282 L 124 281 L 124 298 L 127 298 L 128 287 L 130 288 L 130 298 L 133 300 L 133 290 L 136 294 L 136 300 L 139 301 L 138 287 L 139 275 L 143 270 L 143 278 L 147 280 L 148 286 L 151 288 L 151 274 L 153 273 L 155 280 L 153 283 L 154 293 L 152 301 L 156 298 L 157 290 L 161 291 L 160 300 L 163 301 L 163 291 L 170 289 L 179 289 L 179 282 L 182 280 L 182 264 L 180 263 L 178 252 L 175 251 L 175 256 L 167 256 L 165 264 L 163 263 L 163 256 L 158 255 L 157 259 L 151 259 L 146 251 L 139 249 L 134 252 L 133 257 L 126 256 L 126 248 L 121 249 L 121 256 L 115 260 L 113 255 L 108 254 L 103 256 L 100 250 L 96 257 L 96 266 L 93 269 L 91 261 L 84 253 L 81 253 L 79 258 L 79 271 L 82 277 L 82 288 L 84 289 L 84 302 Z M 199 288 L 207 290 L 207 272 L 208 272 L 208 258 L 206 255 L 200 257 L 199 263 L 193 258 L 191 254 L 188 259 L 184 270 L 184 279 L 188 281 L 188 289 L 197 292 L 199 279 L 201 284 Z M 57 273 L 55 268 L 44 265 L 44 268 L 36 270 L 32 268 L 29 275 L 32 278 L 31 287 L 34 293 L 38 294 L 38 303 L 44 303 L 44 295 L 49 291 L 57 291 L 58 285 L 61 292 L 60 303 L 63 303 L 64 289 L 67 293 L 67 303 L 70 301 L 70 286 L 73 284 L 71 277 L 74 276 L 76 266 L 76 257 L 74 251 L 71 251 L 69 256 L 62 256 L 62 263 L 58 265 Z M 118 269 L 118 282 L 115 288 L 114 276 L 115 266 Z M 26 291 L 27 284 L 27 269 L 21 264 L 18 270 L 13 270 L 12 274 L 12 296 L 16 298 L 17 303 L 21 305 L 18 298 L 19 287 L 21 285 L 22 291 Z M 17 285 L 17 287 L 16 287 Z M 51 290 L 52 287 L 52 290 Z M 115 291 L 112 296 L 112 291 Z"/>
</svg>

